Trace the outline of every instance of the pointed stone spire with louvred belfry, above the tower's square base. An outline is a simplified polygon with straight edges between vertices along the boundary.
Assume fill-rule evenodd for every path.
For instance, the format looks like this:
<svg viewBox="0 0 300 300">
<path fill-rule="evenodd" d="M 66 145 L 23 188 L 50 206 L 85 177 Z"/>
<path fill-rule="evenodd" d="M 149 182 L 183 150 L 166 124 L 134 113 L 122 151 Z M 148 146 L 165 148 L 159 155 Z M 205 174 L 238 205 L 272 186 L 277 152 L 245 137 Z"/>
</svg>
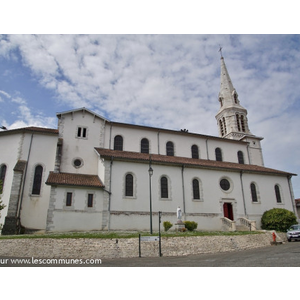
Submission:
<svg viewBox="0 0 300 300">
<path fill-rule="evenodd" d="M 241 106 L 238 93 L 230 79 L 224 57 L 221 52 L 221 86 L 219 92 L 220 109 L 216 115 L 219 136 L 240 140 L 252 135 L 248 127 L 247 110 Z"/>
</svg>

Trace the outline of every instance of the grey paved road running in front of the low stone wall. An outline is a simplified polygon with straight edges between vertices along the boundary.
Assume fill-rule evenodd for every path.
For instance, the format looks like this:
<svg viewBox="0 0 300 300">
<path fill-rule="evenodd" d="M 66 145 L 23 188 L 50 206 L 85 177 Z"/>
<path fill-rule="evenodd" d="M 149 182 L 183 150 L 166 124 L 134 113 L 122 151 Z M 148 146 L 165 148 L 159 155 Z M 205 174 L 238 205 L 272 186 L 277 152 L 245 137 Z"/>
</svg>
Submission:
<svg viewBox="0 0 300 300">
<path fill-rule="evenodd" d="M 63 265 L 13 265 L 11 258 L 0 257 L 0 261 L 9 259 L 0 266 L 21 267 L 53 267 Z M 219 254 L 199 254 L 176 257 L 137 257 L 102 259 L 101 264 L 66 265 L 68 267 L 300 267 L 300 242 L 263 247 L 258 249 L 227 252 Z"/>
</svg>

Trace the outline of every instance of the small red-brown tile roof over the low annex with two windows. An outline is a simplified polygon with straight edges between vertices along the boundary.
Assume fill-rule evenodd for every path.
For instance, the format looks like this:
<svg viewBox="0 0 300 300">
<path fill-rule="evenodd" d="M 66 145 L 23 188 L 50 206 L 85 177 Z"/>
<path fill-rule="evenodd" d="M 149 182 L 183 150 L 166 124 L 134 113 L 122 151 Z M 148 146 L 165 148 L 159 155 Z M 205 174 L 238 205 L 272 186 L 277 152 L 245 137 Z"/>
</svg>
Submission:
<svg viewBox="0 0 300 300">
<path fill-rule="evenodd" d="M 50 172 L 46 181 L 48 185 L 72 185 L 103 188 L 104 185 L 97 175 L 54 173 Z"/>
</svg>

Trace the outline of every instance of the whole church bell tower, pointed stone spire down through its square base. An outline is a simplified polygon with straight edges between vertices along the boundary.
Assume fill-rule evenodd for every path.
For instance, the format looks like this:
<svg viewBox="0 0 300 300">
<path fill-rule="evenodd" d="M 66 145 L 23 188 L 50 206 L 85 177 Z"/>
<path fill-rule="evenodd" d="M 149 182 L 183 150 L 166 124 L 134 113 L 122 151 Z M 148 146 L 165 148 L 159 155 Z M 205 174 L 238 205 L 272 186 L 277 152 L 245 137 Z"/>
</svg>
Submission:
<svg viewBox="0 0 300 300">
<path fill-rule="evenodd" d="M 253 135 L 248 126 L 247 109 L 240 104 L 239 95 L 233 87 L 224 57 L 221 53 L 221 86 L 219 92 L 220 109 L 216 115 L 219 136 L 226 139 L 240 140 L 249 143 L 249 162 L 263 165 L 260 141 Z"/>
</svg>

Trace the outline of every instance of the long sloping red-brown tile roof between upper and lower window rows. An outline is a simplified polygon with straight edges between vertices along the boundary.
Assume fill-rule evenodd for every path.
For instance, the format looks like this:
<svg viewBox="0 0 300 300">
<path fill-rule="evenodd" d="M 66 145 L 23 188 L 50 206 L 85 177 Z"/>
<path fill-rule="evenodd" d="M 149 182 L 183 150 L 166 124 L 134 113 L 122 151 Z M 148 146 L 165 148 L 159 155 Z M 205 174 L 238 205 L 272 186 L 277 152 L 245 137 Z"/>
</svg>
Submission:
<svg viewBox="0 0 300 300">
<path fill-rule="evenodd" d="M 296 175 L 288 172 L 283 172 L 275 169 L 265 168 L 256 165 L 238 164 L 232 162 L 221 162 L 206 159 L 194 159 L 188 157 L 178 157 L 178 156 L 167 156 L 158 154 L 147 154 L 139 152 L 129 152 L 129 151 L 118 151 L 103 148 L 95 148 L 95 150 L 100 154 L 101 157 L 111 158 L 118 160 L 130 160 L 130 161 L 140 161 L 149 162 L 150 159 L 152 163 L 156 164 L 173 164 L 173 165 L 186 165 L 190 167 L 207 168 L 207 169 L 225 169 L 225 170 L 236 170 L 244 172 L 254 172 L 254 173 L 268 173 L 274 175 Z"/>
</svg>

